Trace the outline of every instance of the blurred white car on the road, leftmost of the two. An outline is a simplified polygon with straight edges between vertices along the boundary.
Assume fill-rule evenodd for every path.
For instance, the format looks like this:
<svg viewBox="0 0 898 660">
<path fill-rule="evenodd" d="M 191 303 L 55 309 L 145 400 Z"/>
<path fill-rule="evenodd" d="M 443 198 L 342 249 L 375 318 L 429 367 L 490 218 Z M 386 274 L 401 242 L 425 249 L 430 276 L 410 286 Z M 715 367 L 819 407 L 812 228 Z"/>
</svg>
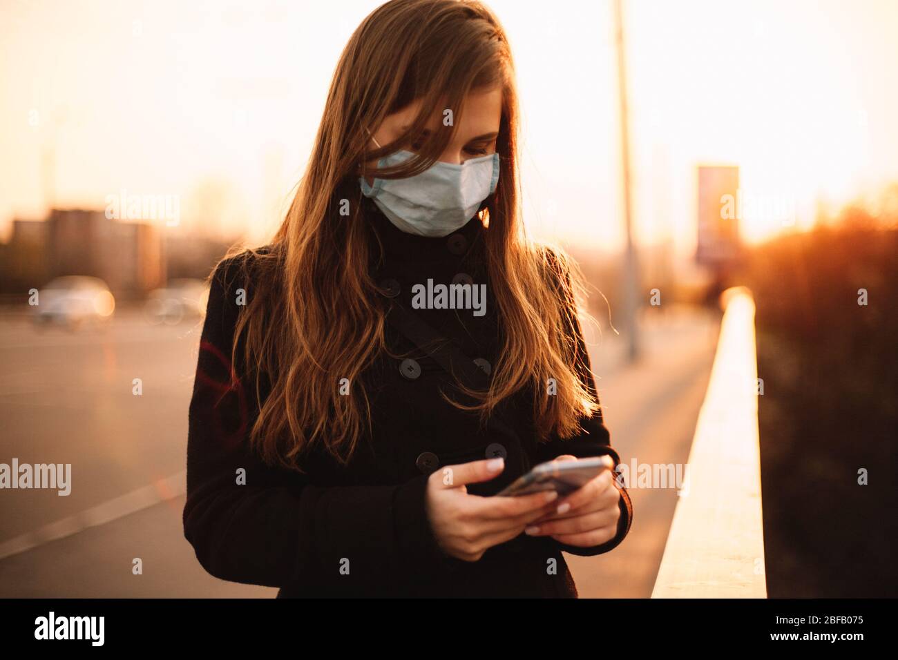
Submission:
<svg viewBox="0 0 898 660">
<path fill-rule="evenodd" d="M 57 323 L 74 329 L 84 322 L 108 321 L 115 312 L 115 297 L 99 277 L 57 277 L 39 290 L 32 311 L 40 325 Z"/>
</svg>

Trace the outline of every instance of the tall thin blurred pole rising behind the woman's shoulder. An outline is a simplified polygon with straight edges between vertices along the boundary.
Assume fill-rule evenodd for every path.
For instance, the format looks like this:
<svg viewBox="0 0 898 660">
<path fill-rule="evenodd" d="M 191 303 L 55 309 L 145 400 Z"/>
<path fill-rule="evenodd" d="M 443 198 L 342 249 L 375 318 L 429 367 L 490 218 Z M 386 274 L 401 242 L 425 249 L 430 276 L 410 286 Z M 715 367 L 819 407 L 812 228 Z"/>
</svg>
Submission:
<svg viewBox="0 0 898 660">
<path fill-rule="evenodd" d="M 618 96 L 621 100 L 621 172 L 623 178 L 623 209 L 627 247 L 623 268 L 624 331 L 627 334 L 627 356 L 634 362 L 639 356 L 639 337 L 636 315 L 639 305 L 638 263 L 633 244 L 632 199 L 629 181 L 629 124 L 627 115 L 627 75 L 623 43 L 623 9 L 621 0 L 614 0 L 614 28 L 618 56 Z"/>
</svg>

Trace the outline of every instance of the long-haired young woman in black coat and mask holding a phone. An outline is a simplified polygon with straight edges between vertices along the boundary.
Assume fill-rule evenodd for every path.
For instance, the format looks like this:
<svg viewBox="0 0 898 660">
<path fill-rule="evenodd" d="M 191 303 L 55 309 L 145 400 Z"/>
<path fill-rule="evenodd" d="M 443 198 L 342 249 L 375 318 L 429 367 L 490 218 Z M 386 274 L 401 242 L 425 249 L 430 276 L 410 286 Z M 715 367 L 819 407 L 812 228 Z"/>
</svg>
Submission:
<svg viewBox="0 0 898 660">
<path fill-rule="evenodd" d="M 392 0 L 353 34 L 280 230 L 212 276 L 184 508 L 209 573 L 280 597 L 570 597 L 561 551 L 629 531 L 610 471 L 496 496 L 540 462 L 619 461 L 577 279 L 524 240 L 516 134 L 484 5 Z"/>
</svg>

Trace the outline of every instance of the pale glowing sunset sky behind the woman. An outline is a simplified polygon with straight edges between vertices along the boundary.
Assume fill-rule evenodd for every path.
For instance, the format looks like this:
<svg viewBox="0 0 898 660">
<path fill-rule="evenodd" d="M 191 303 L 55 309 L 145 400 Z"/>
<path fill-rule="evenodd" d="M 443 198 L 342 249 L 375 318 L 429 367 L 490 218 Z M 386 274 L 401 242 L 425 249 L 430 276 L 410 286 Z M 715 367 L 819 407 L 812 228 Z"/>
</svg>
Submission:
<svg viewBox="0 0 898 660">
<path fill-rule="evenodd" d="M 0 236 L 13 217 L 180 196 L 178 231 L 265 241 L 340 50 L 378 2 L 0 0 Z M 611 2 L 494 0 L 515 52 L 531 233 L 621 245 Z M 806 226 L 898 180 L 898 2 L 624 0 L 640 242 L 695 242 L 695 166 Z M 215 216 L 216 223 L 209 217 Z M 757 241 L 779 217 L 744 218 Z"/>
</svg>

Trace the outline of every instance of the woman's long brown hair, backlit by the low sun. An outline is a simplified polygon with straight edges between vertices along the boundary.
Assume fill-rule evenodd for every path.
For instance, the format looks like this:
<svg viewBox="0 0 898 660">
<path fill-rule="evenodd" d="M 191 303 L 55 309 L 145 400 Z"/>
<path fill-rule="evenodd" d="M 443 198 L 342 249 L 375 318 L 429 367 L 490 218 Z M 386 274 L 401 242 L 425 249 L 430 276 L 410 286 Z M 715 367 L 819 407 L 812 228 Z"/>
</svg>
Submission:
<svg viewBox="0 0 898 660">
<path fill-rule="evenodd" d="M 267 461 L 300 470 L 304 450 L 321 444 L 346 462 L 370 432 L 369 400 L 357 383 L 386 346 L 358 177 L 402 178 L 427 169 L 452 139 L 464 97 L 497 86 L 501 174 L 480 217 L 502 349 L 489 391 L 465 390 L 476 402 L 453 404 L 485 419 L 499 401 L 530 388 L 540 439 L 571 436 L 582 416 L 598 410 L 581 380 L 583 348 L 572 337 L 576 268 L 563 252 L 528 242 L 519 217 L 515 70 L 505 31 L 473 0 L 392 0 L 368 15 L 344 48 L 293 203 L 272 248 L 251 251 L 249 304 L 232 356 L 242 338 L 241 357 L 256 374 L 257 392 L 260 374 L 269 378 L 270 394 L 251 431 Z M 420 110 L 407 132 L 372 149 L 365 129 L 374 132 L 385 116 L 416 100 Z M 453 110 L 452 126 L 434 131 L 418 157 L 383 170 L 365 167 L 411 142 L 443 109 Z M 342 379 L 351 384 L 348 396 L 339 392 Z"/>
</svg>

